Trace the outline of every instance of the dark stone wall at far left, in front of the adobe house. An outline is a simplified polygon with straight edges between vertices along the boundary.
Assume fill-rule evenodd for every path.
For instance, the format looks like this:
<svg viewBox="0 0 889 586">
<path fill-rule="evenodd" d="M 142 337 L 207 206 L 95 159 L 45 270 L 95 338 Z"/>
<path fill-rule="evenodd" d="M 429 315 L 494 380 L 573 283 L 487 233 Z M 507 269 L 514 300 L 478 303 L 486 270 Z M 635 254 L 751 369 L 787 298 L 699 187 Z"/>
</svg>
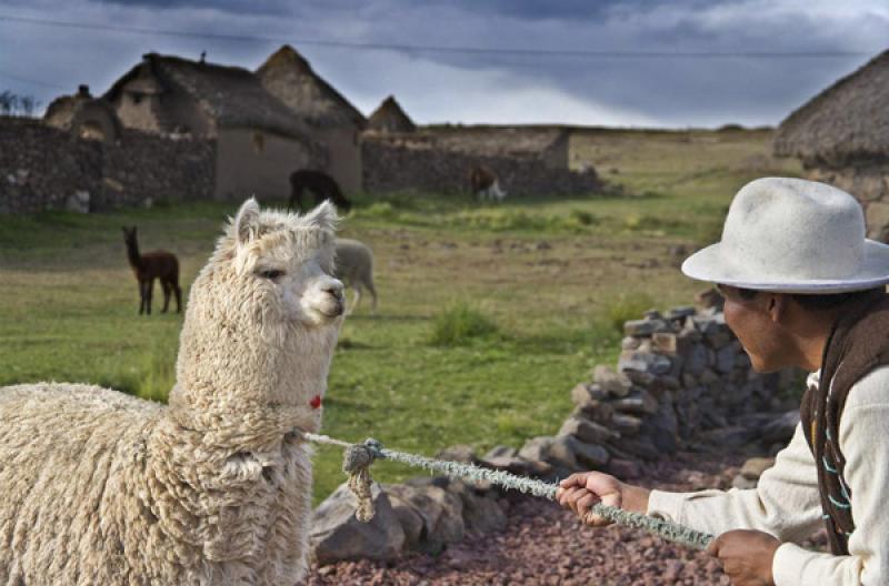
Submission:
<svg viewBox="0 0 889 586">
<path fill-rule="evenodd" d="M 213 141 L 124 131 L 107 144 L 39 120 L 0 118 L 0 213 L 209 200 L 214 161 Z"/>
</svg>

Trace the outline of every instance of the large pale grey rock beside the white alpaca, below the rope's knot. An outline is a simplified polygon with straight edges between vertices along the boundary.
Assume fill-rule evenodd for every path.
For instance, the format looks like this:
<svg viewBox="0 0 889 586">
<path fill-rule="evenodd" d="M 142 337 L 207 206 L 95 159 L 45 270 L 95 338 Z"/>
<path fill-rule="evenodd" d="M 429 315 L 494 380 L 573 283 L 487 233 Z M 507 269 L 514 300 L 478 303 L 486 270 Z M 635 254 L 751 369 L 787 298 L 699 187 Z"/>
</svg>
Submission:
<svg viewBox="0 0 889 586">
<path fill-rule="evenodd" d="M 314 511 L 310 534 L 312 556 L 320 565 L 346 559 L 394 559 L 404 545 L 404 529 L 387 494 L 371 489 L 376 514 L 370 523 L 354 517 L 356 499 L 340 485 Z"/>
</svg>

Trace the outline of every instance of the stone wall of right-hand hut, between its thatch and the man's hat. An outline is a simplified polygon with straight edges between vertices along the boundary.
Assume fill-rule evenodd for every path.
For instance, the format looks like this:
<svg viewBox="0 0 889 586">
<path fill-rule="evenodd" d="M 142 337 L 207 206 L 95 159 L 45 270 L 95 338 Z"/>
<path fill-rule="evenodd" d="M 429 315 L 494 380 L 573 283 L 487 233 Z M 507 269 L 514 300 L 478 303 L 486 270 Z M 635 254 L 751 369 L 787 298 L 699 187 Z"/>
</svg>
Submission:
<svg viewBox="0 0 889 586">
<path fill-rule="evenodd" d="M 889 242 L 889 163 L 862 163 L 839 169 L 811 168 L 807 176 L 855 195 L 865 209 L 868 238 Z"/>
</svg>

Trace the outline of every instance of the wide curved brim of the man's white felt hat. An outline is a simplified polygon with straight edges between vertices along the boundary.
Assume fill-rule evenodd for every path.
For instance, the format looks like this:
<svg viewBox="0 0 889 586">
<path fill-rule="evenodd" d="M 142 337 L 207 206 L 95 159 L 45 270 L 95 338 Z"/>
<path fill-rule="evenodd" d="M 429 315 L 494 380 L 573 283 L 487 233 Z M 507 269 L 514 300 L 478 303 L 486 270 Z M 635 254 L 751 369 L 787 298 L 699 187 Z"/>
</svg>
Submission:
<svg viewBox="0 0 889 586">
<path fill-rule="evenodd" d="M 691 279 L 722 285 L 779 293 L 846 293 L 863 291 L 889 283 L 889 245 L 865 241 L 865 262 L 860 270 L 843 279 L 763 281 L 762 275 L 749 274 L 749 269 L 732 262 L 717 242 L 702 249 L 682 263 L 682 273 Z"/>
</svg>

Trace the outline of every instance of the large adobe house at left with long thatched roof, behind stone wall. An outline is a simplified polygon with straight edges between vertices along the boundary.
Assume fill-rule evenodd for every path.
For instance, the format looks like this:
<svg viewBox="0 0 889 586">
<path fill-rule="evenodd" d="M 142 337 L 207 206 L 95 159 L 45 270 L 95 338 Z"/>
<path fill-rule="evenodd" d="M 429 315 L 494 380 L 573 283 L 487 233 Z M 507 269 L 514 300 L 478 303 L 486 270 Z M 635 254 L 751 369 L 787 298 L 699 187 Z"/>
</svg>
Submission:
<svg viewBox="0 0 889 586">
<path fill-rule="evenodd" d="M 250 71 L 148 53 L 102 97 L 124 128 L 216 141 L 213 198 L 284 199 L 323 146 Z"/>
</svg>

